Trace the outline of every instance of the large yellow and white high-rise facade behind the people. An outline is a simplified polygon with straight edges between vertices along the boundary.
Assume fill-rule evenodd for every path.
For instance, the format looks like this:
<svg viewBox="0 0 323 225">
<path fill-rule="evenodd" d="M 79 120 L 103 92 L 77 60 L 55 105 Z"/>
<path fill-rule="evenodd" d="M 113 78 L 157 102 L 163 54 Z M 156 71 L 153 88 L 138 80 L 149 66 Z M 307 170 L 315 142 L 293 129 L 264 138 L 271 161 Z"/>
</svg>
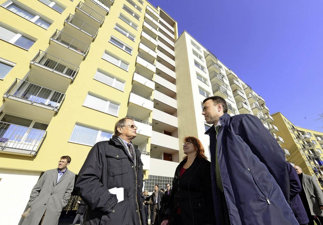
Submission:
<svg viewBox="0 0 323 225">
<path fill-rule="evenodd" d="M 208 149 L 205 97 L 224 97 L 230 115 L 255 115 L 274 134 L 265 100 L 145 0 L 0 0 L 0 15 L 3 224 L 18 224 L 42 172 L 69 155 L 78 174 L 126 116 L 150 191 L 171 183 L 185 136 Z"/>
</svg>

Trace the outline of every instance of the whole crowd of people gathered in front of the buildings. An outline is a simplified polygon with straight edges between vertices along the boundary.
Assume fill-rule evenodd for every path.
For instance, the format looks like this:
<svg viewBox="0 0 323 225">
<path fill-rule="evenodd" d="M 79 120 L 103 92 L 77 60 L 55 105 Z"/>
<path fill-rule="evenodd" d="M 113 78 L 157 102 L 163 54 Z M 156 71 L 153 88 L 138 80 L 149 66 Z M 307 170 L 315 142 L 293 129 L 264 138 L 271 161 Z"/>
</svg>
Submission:
<svg viewBox="0 0 323 225">
<path fill-rule="evenodd" d="M 201 141 L 183 139 L 185 157 L 172 184 L 148 195 L 143 190 L 141 153 L 134 148 L 137 127 L 120 119 L 108 141 L 90 150 L 76 181 L 84 201 L 78 218 L 87 225 L 323 225 L 323 193 L 314 177 L 286 162 L 285 154 L 250 114 L 230 116 L 222 97 L 203 101 L 202 115 L 213 126 L 210 161 Z M 75 174 L 63 156 L 57 169 L 38 180 L 23 224 L 53 224 L 70 198 Z M 172 187 L 172 189 L 171 189 Z"/>
</svg>

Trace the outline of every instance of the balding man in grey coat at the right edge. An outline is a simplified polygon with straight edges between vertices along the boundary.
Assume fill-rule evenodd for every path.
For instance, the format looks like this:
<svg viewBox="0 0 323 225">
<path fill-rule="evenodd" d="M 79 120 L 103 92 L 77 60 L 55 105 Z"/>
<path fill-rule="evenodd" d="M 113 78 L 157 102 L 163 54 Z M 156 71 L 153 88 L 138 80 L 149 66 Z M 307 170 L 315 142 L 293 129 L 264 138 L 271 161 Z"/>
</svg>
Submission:
<svg viewBox="0 0 323 225">
<path fill-rule="evenodd" d="M 318 220 L 323 224 L 323 193 L 317 180 L 304 174 L 299 166 L 294 166 L 294 168 L 302 184 L 302 191 L 299 196 L 309 219 L 308 225 L 314 225 L 314 216 L 318 216 Z"/>
</svg>

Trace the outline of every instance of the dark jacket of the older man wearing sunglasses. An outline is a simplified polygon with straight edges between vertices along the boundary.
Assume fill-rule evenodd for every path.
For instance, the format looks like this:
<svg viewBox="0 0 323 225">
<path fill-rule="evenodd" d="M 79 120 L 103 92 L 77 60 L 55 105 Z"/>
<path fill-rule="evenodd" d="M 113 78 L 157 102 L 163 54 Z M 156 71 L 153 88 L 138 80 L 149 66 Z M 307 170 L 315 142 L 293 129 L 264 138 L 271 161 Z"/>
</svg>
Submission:
<svg viewBox="0 0 323 225">
<path fill-rule="evenodd" d="M 78 174 L 76 188 L 87 202 L 84 224 L 139 225 L 145 215 L 142 204 L 143 171 L 140 152 L 136 165 L 116 136 L 96 143 Z M 117 203 L 108 189 L 124 188 L 124 200 Z"/>
</svg>

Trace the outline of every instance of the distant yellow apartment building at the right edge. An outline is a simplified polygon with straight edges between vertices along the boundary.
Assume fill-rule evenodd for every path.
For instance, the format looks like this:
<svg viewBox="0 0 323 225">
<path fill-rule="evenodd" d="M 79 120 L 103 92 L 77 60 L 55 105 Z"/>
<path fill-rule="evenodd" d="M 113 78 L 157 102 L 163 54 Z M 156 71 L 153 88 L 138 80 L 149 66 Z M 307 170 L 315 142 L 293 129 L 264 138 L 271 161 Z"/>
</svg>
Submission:
<svg viewBox="0 0 323 225">
<path fill-rule="evenodd" d="M 271 116 L 274 118 L 272 124 L 276 135 L 284 140 L 280 145 L 287 161 L 315 177 L 323 189 L 323 132 L 298 127 L 280 112 Z"/>
</svg>

